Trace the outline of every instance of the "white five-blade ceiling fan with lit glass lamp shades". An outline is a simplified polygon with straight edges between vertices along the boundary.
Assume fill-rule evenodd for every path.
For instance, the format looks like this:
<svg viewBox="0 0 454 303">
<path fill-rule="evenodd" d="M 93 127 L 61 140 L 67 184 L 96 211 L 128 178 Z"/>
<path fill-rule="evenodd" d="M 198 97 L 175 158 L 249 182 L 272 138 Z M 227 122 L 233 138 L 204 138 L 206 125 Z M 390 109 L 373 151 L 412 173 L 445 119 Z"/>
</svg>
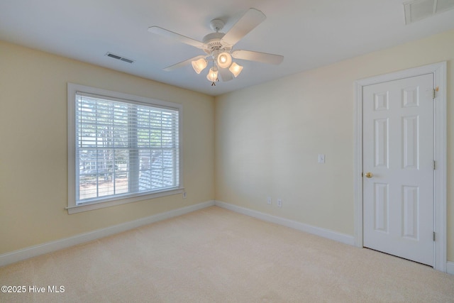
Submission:
<svg viewBox="0 0 454 303">
<path fill-rule="evenodd" d="M 225 82 L 233 79 L 233 77 L 238 77 L 241 70 L 243 70 L 242 66 L 232 61 L 232 57 L 240 60 L 251 60 L 275 65 L 278 65 L 284 60 L 284 57 L 281 55 L 259 53 L 251 50 L 233 50 L 233 46 L 256 26 L 262 23 L 265 18 L 267 18 L 265 14 L 258 9 L 248 9 L 227 33 L 220 32 L 224 26 L 222 20 L 211 20 L 210 26 L 215 32 L 205 35 L 202 41 L 188 38 L 159 26 L 150 26 L 148 31 L 200 48 L 206 53 L 205 55 L 198 55 L 175 65 L 165 67 L 165 71 L 170 72 L 192 63 L 192 67 L 196 73 L 200 74 L 208 65 L 208 62 L 211 61 L 212 67 L 210 68 L 206 79 L 209 79 L 209 81 L 212 82 L 211 85 L 216 85 L 215 82 L 219 81 L 219 75 L 221 76 L 221 80 Z"/>
</svg>

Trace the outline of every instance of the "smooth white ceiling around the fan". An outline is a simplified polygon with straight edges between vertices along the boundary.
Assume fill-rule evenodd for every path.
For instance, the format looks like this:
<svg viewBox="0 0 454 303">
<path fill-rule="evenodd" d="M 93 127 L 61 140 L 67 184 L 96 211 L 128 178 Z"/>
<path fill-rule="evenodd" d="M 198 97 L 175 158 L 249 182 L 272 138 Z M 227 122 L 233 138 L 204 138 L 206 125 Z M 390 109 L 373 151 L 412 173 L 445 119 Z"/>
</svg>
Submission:
<svg viewBox="0 0 454 303">
<path fill-rule="evenodd" d="M 406 0 L 1 0 L 0 40 L 216 96 L 454 28 L 454 10 L 405 25 Z M 211 87 L 191 65 L 162 68 L 203 51 L 148 32 L 150 26 L 201 40 L 249 8 L 267 16 L 235 49 L 284 56 L 280 65 L 237 60 L 243 72 Z M 436 46 L 434 46 L 436 47 Z M 114 53 L 133 64 L 107 57 Z M 1 50 L 0 50 L 1 53 Z"/>
</svg>

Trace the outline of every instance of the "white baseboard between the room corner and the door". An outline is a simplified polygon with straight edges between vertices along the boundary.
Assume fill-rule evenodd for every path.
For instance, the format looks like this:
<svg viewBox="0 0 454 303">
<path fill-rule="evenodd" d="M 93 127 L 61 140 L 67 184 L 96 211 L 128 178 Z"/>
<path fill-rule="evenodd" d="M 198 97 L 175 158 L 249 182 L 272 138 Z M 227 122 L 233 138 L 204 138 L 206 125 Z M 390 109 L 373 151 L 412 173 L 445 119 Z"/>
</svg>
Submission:
<svg viewBox="0 0 454 303">
<path fill-rule="evenodd" d="M 351 246 L 355 245 L 355 237 L 354 236 L 350 236 L 350 235 L 346 235 L 345 233 L 337 233 L 336 231 L 330 231 L 328 229 L 319 228 L 319 227 L 316 227 L 316 226 L 311 226 L 309 224 L 303 224 L 303 223 L 298 222 L 298 221 L 284 219 L 284 218 L 280 218 L 278 216 L 272 216 L 270 214 L 264 214 L 264 213 L 262 213 L 260 211 L 255 211 L 255 210 L 252 210 L 252 209 L 246 209 L 244 207 L 236 206 L 236 205 L 229 204 L 229 203 L 226 203 L 226 202 L 215 201 L 215 205 L 216 206 L 220 206 L 220 207 L 222 207 L 224 209 L 229 209 L 231 211 L 236 211 L 236 212 L 238 212 L 240 214 L 245 214 L 247 216 L 253 216 L 254 218 L 257 218 L 257 219 L 260 219 L 260 220 L 263 220 L 263 221 L 268 221 L 268 222 L 272 222 L 272 223 L 279 224 L 279 225 L 282 225 L 282 226 L 287 226 L 289 228 L 294 228 L 294 229 L 297 229 L 299 231 L 304 231 L 306 233 L 312 233 L 312 234 L 314 234 L 316 236 L 321 236 L 323 238 L 328 238 L 328 239 L 331 239 L 331 240 L 334 240 L 334 241 L 338 241 L 338 242 L 341 242 L 341 243 L 345 243 L 345 244 L 348 244 L 348 245 L 351 245 Z"/>
</svg>

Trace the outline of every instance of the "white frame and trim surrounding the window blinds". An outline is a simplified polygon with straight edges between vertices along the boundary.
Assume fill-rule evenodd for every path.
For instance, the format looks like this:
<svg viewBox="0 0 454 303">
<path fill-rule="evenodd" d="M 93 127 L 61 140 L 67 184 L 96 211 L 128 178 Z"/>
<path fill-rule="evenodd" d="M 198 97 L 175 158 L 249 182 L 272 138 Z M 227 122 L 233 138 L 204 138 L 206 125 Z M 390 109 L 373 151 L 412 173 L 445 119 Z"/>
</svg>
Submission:
<svg viewBox="0 0 454 303">
<path fill-rule="evenodd" d="M 76 182 L 79 175 L 76 167 L 76 95 L 89 94 L 97 97 L 103 97 L 104 99 L 110 99 L 112 101 L 128 102 L 131 104 L 139 104 L 145 106 L 155 106 L 157 108 L 171 109 L 178 112 L 178 140 L 179 140 L 179 165 L 177 180 L 179 185 L 170 189 L 155 190 L 153 192 L 138 192 L 128 194 L 127 197 L 109 196 L 106 198 L 100 198 L 99 201 L 84 202 L 77 204 L 76 194 Z M 75 214 L 81 211 L 89 211 L 93 209 L 101 209 L 104 207 L 115 206 L 120 204 L 126 204 L 131 202 L 137 202 L 147 199 L 154 199 L 158 197 L 165 197 L 172 194 L 182 194 L 184 192 L 183 187 L 183 155 L 182 155 L 182 104 L 175 102 L 162 101 L 157 99 L 151 99 L 147 97 L 135 96 L 133 94 L 124 94 L 121 92 L 114 92 L 106 89 L 99 89 L 96 87 L 88 87 L 80 84 L 67 83 L 67 153 L 68 153 L 68 214 Z"/>
</svg>

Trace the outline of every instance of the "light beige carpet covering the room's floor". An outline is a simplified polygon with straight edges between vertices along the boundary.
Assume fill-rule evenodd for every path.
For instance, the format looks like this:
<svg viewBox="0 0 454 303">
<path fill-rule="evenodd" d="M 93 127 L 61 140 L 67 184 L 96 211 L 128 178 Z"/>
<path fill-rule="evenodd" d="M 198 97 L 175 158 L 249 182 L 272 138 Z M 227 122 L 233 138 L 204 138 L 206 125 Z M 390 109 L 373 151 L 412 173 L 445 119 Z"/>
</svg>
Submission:
<svg viewBox="0 0 454 303">
<path fill-rule="evenodd" d="M 218 206 L 4 266 L 0 281 L 26 287 L 0 302 L 454 302 L 454 275 Z"/>
</svg>

